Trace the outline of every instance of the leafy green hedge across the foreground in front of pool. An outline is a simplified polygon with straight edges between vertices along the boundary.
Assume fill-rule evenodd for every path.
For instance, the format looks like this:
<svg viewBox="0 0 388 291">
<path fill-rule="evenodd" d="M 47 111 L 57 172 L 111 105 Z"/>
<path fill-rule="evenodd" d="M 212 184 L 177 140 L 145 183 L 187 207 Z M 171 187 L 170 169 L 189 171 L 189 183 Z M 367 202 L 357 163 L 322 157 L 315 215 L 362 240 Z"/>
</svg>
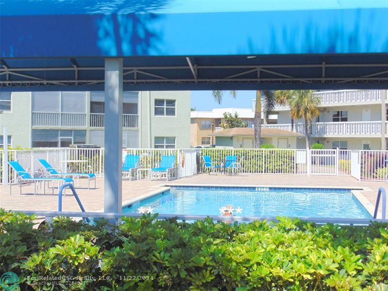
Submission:
<svg viewBox="0 0 388 291">
<path fill-rule="evenodd" d="M 96 226 L 0 210 L 0 275 L 28 290 L 386 290 L 388 225 L 193 224 L 123 218 Z M 30 276 L 30 278 L 29 278 Z M 44 289 L 37 276 L 79 276 Z M 134 278 L 134 279 L 133 279 Z M 50 281 L 44 281 L 46 283 Z M 33 285 L 35 283 L 35 285 Z M 59 287 L 58 287 L 59 286 Z M 42 288 L 42 289 L 39 289 Z"/>
</svg>

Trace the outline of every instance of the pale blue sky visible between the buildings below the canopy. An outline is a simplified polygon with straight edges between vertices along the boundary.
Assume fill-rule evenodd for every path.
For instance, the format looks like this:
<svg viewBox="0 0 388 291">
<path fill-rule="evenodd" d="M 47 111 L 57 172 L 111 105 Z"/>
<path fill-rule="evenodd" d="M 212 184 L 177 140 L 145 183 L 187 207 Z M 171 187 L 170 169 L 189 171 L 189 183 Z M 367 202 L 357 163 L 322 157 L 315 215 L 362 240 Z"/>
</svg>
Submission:
<svg viewBox="0 0 388 291">
<path fill-rule="evenodd" d="M 237 91 L 236 99 L 224 91 L 221 105 L 214 101 L 212 91 L 191 91 L 191 107 L 196 110 L 210 111 L 213 108 L 238 107 L 252 108 L 252 99 L 256 98 L 256 91 Z"/>
</svg>

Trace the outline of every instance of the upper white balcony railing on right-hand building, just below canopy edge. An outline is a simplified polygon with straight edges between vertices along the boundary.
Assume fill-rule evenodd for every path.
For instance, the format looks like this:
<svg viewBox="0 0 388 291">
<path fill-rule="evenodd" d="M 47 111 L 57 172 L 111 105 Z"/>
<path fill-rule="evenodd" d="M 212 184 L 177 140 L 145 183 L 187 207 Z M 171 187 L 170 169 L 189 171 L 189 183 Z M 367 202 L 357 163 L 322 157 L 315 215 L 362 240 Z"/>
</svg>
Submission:
<svg viewBox="0 0 388 291">
<path fill-rule="evenodd" d="M 321 104 L 354 103 L 381 100 L 381 90 L 337 90 L 314 92 L 314 96 L 321 99 Z M 254 102 L 255 103 L 255 102 Z M 289 109 L 289 106 L 275 105 L 275 109 Z"/>
</svg>

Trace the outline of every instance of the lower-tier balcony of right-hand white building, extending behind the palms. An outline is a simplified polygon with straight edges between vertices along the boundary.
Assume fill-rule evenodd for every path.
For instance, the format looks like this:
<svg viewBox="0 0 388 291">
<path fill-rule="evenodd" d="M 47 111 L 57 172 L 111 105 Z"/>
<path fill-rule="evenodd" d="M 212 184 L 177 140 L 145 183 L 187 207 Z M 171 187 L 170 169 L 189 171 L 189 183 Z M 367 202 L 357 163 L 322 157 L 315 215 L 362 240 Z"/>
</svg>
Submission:
<svg viewBox="0 0 388 291">
<path fill-rule="evenodd" d="M 388 123 L 386 123 L 388 126 Z M 291 124 L 270 124 L 266 128 L 275 128 L 291 131 Z M 305 133 L 304 124 L 294 124 L 294 132 Z M 313 122 L 311 136 L 339 136 L 339 135 L 380 135 L 381 121 L 357 122 Z M 388 134 L 388 128 L 387 128 Z"/>
</svg>

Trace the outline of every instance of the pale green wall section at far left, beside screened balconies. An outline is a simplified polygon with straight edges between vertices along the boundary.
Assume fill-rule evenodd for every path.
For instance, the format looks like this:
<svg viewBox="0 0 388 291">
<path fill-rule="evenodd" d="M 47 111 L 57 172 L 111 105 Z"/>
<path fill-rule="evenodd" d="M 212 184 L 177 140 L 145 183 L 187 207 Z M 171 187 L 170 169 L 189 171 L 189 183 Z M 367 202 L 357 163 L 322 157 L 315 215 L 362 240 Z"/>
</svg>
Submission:
<svg viewBox="0 0 388 291">
<path fill-rule="evenodd" d="M 0 126 L 8 128 L 13 147 L 31 146 L 31 92 L 12 93 L 11 111 L 0 114 Z"/>
</svg>

